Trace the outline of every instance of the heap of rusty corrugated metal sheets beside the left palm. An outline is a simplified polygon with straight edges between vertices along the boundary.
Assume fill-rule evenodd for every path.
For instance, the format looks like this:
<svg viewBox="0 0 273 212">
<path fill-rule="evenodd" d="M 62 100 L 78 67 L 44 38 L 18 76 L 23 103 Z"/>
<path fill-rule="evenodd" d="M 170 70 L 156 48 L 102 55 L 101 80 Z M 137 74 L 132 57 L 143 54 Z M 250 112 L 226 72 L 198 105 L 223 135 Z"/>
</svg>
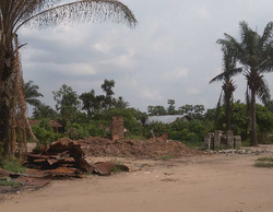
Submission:
<svg viewBox="0 0 273 212">
<path fill-rule="evenodd" d="M 43 170 L 55 178 L 82 177 L 84 173 L 109 175 L 116 167 L 114 162 L 91 165 L 84 160 L 84 155 L 78 141 L 60 139 L 40 154 L 29 153 L 25 166 Z"/>
</svg>

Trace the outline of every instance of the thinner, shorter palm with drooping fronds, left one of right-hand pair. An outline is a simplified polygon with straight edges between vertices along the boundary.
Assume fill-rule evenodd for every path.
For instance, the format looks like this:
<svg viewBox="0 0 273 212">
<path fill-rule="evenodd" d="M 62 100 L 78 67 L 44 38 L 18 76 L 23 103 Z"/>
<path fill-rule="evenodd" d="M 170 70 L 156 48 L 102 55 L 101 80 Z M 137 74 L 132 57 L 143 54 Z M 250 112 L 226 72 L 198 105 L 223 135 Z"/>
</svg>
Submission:
<svg viewBox="0 0 273 212">
<path fill-rule="evenodd" d="M 230 78 L 230 70 L 234 70 L 236 67 L 236 59 L 232 56 L 227 49 L 223 48 L 223 68 L 224 72 L 213 78 L 210 83 L 222 81 L 222 91 L 219 94 L 217 107 L 216 107 L 216 120 L 218 119 L 218 114 L 221 109 L 221 105 L 225 106 L 225 115 L 226 115 L 226 130 L 232 129 L 232 114 L 233 114 L 233 102 L 234 102 L 234 92 L 236 90 L 236 85 L 234 84 L 233 79 Z M 224 93 L 224 96 L 222 96 Z M 223 97 L 223 98 L 222 98 Z M 217 121 L 216 121 L 217 122 Z M 216 125 L 217 126 L 217 125 Z"/>
</svg>

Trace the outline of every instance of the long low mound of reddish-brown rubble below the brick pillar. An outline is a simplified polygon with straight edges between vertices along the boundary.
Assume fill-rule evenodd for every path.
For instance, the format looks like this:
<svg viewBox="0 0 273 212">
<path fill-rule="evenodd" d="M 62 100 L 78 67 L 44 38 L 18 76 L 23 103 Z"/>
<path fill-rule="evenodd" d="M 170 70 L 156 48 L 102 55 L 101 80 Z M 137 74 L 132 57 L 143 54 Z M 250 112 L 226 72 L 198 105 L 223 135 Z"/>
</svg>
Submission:
<svg viewBox="0 0 273 212">
<path fill-rule="evenodd" d="M 186 146 L 180 141 L 151 140 L 122 140 L 111 141 L 104 138 L 87 138 L 79 141 L 87 156 L 191 156 L 200 154 L 199 151 Z"/>
</svg>

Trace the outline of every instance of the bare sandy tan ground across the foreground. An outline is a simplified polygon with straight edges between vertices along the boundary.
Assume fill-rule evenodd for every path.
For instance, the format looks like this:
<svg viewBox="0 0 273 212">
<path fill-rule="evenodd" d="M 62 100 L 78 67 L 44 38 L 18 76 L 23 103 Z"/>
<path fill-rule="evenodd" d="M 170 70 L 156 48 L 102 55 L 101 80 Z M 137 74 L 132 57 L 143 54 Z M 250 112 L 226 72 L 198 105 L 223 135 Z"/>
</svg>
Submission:
<svg viewBox="0 0 273 212">
<path fill-rule="evenodd" d="M 55 180 L 36 191 L 5 195 L 0 211 L 272 212 L 273 169 L 253 166 L 258 157 L 270 155 L 214 154 L 165 161 L 116 157 L 131 172 Z M 109 160 L 114 157 L 88 158 Z"/>
</svg>

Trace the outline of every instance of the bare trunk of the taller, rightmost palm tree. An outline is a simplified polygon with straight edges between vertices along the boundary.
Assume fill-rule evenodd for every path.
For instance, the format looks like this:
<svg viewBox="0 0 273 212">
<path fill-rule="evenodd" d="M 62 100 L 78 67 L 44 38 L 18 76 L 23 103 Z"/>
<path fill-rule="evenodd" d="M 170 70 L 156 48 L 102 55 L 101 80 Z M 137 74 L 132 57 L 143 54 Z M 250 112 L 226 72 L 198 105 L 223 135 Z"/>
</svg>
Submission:
<svg viewBox="0 0 273 212">
<path fill-rule="evenodd" d="M 250 145 L 257 146 L 257 125 L 256 125 L 256 90 L 251 89 L 251 101 L 250 101 L 250 129 L 251 129 L 251 140 Z"/>
</svg>

